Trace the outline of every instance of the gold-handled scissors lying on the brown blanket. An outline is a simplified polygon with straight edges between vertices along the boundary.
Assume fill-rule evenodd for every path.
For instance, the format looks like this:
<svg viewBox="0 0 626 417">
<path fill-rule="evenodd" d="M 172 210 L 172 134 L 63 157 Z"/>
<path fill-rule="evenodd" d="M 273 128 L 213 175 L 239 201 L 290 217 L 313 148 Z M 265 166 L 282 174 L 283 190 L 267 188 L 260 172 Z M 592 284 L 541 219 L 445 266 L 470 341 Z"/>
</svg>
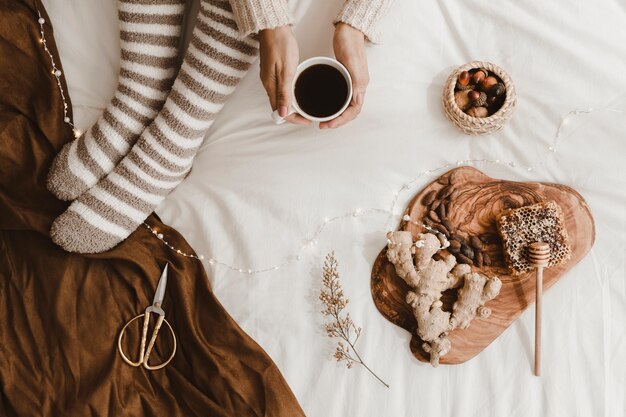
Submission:
<svg viewBox="0 0 626 417">
<path fill-rule="evenodd" d="M 122 359 L 124 360 L 124 362 L 126 362 L 130 366 L 137 367 L 137 366 L 143 365 L 143 367 L 146 368 L 147 370 L 155 371 L 157 369 L 163 368 L 168 363 L 170 363 L 170 361 L 172 360 L 172 358 L 174 358 L 174 355 L 176 354 L 176 335 L 174 334 L 174 329 L 172 329 L 172 326 L 169 324 L 167 320 L 165 320 L 165 311 L 163 311 L 163 308 L 161 307 L 163 305 L 163 298 L 165 297 L 165 287 L 167 286 L 167 266 L 168 264 L 165 265 L 165 268 L 163 269 L 163 272 L 161 273 L 161 278 L 159 278 L 159 283 L 157 284 L 157 290 L 156 290 L 156 293 L 154 294 L 152 305 L 148 306 L 144 313 L 141 313 L 140 315 L 130 319 L 130 321 L 128 321 L 128 323 L 126 323 L 126 325 L 122 328 L 122 331 L 120 332 L 120 336 L 117 339 L 117 349 L 120 352 L 120 355 L 122 356 Z M 150 338 L 150 342 L 148 343 L 148 349 L 146 349 L 146 339 L 148 336 L 148 325 L 150 324 L 151 313 L 157 314 L 159 317 L 157 319 L 156 325 L 154 326 L 154 330 L 152 331 L 152 337 Z M 126 332 L 126 328 L 132 322 L 134 322 L 135 320 L 141 317 L 143 317 L 143 331 L 141 332 L 141 345 L 139 347 L 139 360 L 137 362 L 133 362 L 124 354 L 124 351 L 122 349 L 122 337 L 124 336 L 124 332 Z M 172 354 L 165 362 L 163 362 L 160 365 L 151 366 L 151 365 L 148 365 L 148 359 L 150 358 L 150 353 L 152 353 L 154 342 L 156 341 L 157 335 L 159 334 L 159 329 L 161 328 L 161 325 L 163 325 L 163 322 L 167 324 L 167 327 L 170 329 L 170 333 L 172 333 L 172 339 L 174 340 L 174 350 L 172 351 Z"/>
</svg>

